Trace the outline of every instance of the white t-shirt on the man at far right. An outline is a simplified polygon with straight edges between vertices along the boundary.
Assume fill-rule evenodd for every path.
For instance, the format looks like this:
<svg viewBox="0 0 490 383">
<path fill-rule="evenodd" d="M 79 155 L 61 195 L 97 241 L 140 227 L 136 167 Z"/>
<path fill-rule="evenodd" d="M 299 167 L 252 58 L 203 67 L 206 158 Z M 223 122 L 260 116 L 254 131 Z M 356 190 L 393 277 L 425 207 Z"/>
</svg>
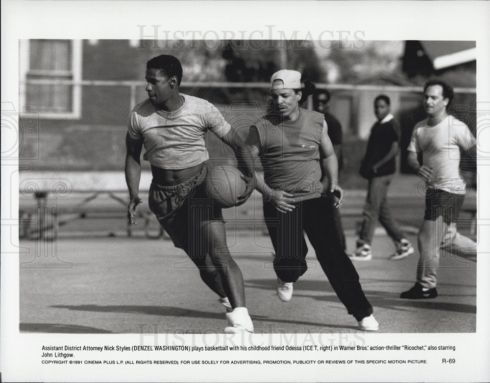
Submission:
<svg viewBox="0 0 490 383">
<path fill-rule="evenodd" d="M 407 150 L 422 152 L 423 163 L 432 168 L 431 187 L 453 194 L 465 194 L 466 182 L 459 169 L 460 150 L 468 150 L 476 144 L 466 124 L 451 115 L 435 126 L 427 120 L 414 128 Z"/>
</svg>

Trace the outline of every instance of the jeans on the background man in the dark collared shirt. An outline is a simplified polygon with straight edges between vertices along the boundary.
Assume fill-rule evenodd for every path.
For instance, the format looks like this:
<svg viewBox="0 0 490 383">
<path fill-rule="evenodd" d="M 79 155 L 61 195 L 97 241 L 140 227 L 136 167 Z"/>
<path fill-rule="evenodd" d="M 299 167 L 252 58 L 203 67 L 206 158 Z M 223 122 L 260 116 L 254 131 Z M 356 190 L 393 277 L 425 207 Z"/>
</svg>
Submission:
<svg viewBox="0 0 490 383">
<path fill-rule="evenodd" d="M 363 211 L 363 225 L 357 241 L 358 246 L 371 244 L 376 220 L 378 219 L 394 242 L 400 242 L 405 237 L 398 223 L 392 218 L 386 198 L 392 178 L 393 175 L 390 174 L 369 180 L 368 195 Z"/>
</svg>

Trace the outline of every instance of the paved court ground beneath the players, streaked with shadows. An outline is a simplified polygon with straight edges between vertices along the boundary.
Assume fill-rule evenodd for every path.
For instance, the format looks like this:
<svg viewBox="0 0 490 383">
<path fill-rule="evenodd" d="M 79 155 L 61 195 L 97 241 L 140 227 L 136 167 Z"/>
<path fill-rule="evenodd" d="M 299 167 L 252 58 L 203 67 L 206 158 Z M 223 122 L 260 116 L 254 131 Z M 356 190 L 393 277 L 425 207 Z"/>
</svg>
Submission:
<svg viewBox="0 0 490 383">
<path fill-rule="evenodd" d="M 416 242 L 415 236 L 410 240 Z M 355 237 L 349 232 L 349 250 Z M 310 251 L 309 270 L 290 302 L 275 294 L 269 237 L 228 228 L 228 244 L 245 279 L 257 333 L 353 332 L 356 321 L 332 291 Z M 61 238 L 22 241 L 20 329 L 36 333 L 221 332 L 224 308 L 183 251 L 164 239 Z M 378 235 L 374 258 L 355 266 L 383 333 L 474 332 L 476 263 L 443 252 L 440 296 L 401 300 L 415 282 L 417 254 L 389 261 L 391 240 Z M 38 256 L 36 256 L 38 255 Z"/>
</svg>

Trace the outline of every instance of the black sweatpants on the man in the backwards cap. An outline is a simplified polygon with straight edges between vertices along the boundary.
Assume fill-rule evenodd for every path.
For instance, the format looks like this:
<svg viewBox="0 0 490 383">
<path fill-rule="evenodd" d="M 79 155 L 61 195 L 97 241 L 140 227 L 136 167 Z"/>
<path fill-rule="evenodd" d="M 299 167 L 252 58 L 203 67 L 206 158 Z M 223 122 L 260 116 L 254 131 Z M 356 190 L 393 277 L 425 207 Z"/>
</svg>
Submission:
<svg viewBox="0 0 490 383">
<path fill-rule="evenodd" d="M 264 217 L 276 257 L 274 270 L 284 282 L 295 282 L 307 269 L 308 251 L 303 230 L 332 288 L 357 320 L 372 314 L 372 306 L 359 283 L 359 275 L 339 241 L 333 206 L 327 197 L 292 203 L 292 212 L 281 213 L 264 202 Z"/>
</svg>

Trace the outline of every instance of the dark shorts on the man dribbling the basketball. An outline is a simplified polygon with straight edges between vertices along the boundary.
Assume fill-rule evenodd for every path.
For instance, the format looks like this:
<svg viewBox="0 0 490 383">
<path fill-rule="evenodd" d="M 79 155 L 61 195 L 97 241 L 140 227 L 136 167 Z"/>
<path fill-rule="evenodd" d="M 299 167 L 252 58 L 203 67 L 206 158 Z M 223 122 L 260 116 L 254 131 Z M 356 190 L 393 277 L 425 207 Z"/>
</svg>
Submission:
<svg viewBox="0 0 490 383">
<path fill-rule="evenodd" d="M 205 163 L 199 174 L 176 185 L 151 182 L 149 208 L 175 247 L 186 252 L 190 247 L 203 246 L 202 227 L 212 222 L 225 222 L 221 207 L 207 195 L 203 184 L 210 167 Z"/>
</svg>

